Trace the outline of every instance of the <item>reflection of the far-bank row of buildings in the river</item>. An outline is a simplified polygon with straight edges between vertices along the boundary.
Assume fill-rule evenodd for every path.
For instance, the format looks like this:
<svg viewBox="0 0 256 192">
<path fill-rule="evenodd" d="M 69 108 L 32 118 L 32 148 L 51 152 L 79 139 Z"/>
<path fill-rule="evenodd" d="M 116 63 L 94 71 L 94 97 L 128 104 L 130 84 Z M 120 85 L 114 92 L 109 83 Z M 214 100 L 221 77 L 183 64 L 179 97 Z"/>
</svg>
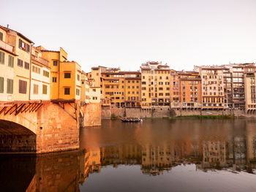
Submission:
<svg viewBox="0 0 256 192">
<path fill-rule="evenodd" d="M 195 164 L 203 171 L 229 169 L 254 173 L 255 123 L 255 120 L 146 120 L 131 125 L 112 121 L 102 128 L 85 129 L 81 147 L 89 150 L 89 159 L 91 154 L 97 154 L 97 166 L 139 164 L 143 174 L 161 174 L 181 164 Z M 92 141 L 95 137 L 97 142 Z M 98 146 L 97 150 L 93 150 L 91 143 Z"/>
</svg>

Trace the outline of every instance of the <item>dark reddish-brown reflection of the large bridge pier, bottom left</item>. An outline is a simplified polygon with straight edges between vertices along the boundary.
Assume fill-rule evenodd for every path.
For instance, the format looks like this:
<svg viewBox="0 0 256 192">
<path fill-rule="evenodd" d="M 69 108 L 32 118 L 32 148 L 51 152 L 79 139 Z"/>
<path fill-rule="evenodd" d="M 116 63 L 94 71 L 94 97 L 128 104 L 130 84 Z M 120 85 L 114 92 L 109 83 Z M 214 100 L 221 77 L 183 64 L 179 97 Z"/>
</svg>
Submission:
<svg viewBox="0 0 256 192">
<path fill-rule="evenodd" d="M 78 152 L 38 155 L 26 191 L 79 191 L 78 164 Z"/>
</svg>

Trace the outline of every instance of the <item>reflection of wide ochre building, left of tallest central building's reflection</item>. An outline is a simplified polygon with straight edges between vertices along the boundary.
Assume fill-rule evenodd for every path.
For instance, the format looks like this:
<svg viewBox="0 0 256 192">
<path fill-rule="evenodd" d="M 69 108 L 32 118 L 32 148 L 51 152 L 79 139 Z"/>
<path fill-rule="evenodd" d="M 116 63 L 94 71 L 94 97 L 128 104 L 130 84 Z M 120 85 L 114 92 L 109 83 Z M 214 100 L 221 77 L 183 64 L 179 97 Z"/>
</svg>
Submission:
<svg viewBox="0 0 256 192">
<path fill-rule="evenodd" d="M 113 164 L 141 164 L 141 147 L 137 144 L 114 145 L 101 148 L 102 166 Z"/>
</svg>

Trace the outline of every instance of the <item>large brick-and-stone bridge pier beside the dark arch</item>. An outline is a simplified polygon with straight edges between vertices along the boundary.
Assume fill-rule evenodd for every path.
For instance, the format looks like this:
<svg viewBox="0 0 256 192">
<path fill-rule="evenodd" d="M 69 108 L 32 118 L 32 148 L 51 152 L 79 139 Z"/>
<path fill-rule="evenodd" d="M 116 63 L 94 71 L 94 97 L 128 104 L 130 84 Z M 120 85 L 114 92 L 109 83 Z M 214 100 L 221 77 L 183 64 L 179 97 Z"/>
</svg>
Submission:
<svg viewBox="0 0 256 192">
<path fill-rule="evenodd" d="M 71 105 L 62 109 L 57 104 L 44 104 L 38 111 L 37 153 L 78 149 L 79 110 Z"/>
</svg>

